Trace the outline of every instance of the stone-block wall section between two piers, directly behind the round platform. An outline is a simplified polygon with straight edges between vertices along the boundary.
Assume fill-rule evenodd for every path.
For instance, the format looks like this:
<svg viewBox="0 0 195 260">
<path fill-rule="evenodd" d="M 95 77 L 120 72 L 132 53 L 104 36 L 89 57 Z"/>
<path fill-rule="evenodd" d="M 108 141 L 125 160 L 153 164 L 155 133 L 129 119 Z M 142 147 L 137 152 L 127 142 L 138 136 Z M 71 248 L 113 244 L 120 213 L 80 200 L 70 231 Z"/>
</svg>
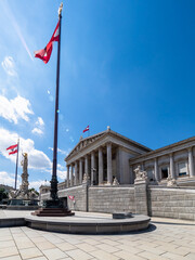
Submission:
<svg viewBox="0 0 195 260">
<path fill-rule="evenodd" d="M 135 212 L 134 187 L 90 186 L 89 211 L 95 212 Z"/>
</svg>

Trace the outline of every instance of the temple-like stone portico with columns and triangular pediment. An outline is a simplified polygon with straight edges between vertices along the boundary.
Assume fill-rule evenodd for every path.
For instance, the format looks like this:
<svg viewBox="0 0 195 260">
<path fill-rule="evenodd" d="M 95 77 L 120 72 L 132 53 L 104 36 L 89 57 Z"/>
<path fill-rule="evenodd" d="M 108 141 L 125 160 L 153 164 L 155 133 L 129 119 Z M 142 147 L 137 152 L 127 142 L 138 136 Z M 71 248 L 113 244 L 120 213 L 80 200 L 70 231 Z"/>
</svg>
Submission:
<svg viewBox="0 0 195 260">
<path fill-rule="evenodd" d="M 84 174 L 91 185 L 113 185 L 115 178 L 120 184 L 131 184 L 129 159 L 151 151 L 109 127 L 101 133 L 81 138 L 65 158 L 67 187 L 81 184 Z"/>
</svg>

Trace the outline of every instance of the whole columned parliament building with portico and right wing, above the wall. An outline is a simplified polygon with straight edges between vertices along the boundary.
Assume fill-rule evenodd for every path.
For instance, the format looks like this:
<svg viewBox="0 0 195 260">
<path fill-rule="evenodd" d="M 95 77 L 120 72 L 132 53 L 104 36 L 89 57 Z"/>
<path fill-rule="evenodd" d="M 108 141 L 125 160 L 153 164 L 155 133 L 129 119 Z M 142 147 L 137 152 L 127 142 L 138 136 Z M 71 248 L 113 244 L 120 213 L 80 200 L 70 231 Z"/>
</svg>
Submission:
<svg viewBox="0 0 195 260">
<path fill-rule="evenodd" d="M 83 176 L 91 185 L 133 184 L 138 165 L 147 172 L 148 182 L 162 184 L 167 178 L 188 185 L 195 181 L 195 138 L 152 151 L 108 127 L 106 131 L 80 139 L 65 158 L 66 186 L 82 183 Z"/>
</svg>

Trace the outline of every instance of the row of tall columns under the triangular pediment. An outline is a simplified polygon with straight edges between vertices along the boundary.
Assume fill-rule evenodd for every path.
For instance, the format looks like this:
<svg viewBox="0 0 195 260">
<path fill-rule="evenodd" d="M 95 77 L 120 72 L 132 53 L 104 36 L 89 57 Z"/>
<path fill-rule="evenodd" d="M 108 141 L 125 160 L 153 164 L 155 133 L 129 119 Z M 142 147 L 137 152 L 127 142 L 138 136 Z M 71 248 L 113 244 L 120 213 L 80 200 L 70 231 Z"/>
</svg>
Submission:
<svg viewBox="0 0 195 260">
<path fill-rule="evenodd" d="M 95 160 L 95 151 L 92 151 L 90 154 L 91 157 L 91 184 L 94 182 L 94 174 L 99 176 L 99 185 L 103 184 L 103 173 L 104 173 L 104 161 L 103 161 L 103 147 L 99 147 L 99 172 L 96 170 L 96 160 Z M 107 154 L 107 184 L 113 183 L 113 169 L 112 169 L 112 143 L 106 144 L 106 154 Z M 84 160 L 84 172 L 82 172 L 82 162 Z M 74 168 L 75 168 L 75 178 L 74 178 Z M 70 171 L 69 171 L 70 169 Z M 70 174 L 69 174 L 70 173 Z M 86 173 L 87 179 L 89 179 L 89 155 L 86 155 L 84 158 L 80 158 L 70 165 L 67 165 L 67 187 L 78 185 L 82 183 L 83 174 Z"/>
</svg>

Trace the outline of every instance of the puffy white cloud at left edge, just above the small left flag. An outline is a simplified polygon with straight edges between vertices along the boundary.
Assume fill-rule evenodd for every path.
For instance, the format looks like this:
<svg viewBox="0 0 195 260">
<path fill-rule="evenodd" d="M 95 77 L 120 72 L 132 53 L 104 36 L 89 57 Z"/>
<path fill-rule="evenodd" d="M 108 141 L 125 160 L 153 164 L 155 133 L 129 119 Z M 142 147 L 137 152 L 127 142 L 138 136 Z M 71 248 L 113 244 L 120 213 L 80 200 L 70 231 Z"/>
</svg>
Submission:
<svg viewBox="0 0 195 260">
<path fill-rule="evenodd" d="M 0 116 L 17 123 L 18 119 L 24 119 L 25 121 L 29 120 L 27 116 L 32 115 L 29 100 L 17 95 L 13 100 L 8 100 L 5 96 L 0 95 Z"/>
</svg>

